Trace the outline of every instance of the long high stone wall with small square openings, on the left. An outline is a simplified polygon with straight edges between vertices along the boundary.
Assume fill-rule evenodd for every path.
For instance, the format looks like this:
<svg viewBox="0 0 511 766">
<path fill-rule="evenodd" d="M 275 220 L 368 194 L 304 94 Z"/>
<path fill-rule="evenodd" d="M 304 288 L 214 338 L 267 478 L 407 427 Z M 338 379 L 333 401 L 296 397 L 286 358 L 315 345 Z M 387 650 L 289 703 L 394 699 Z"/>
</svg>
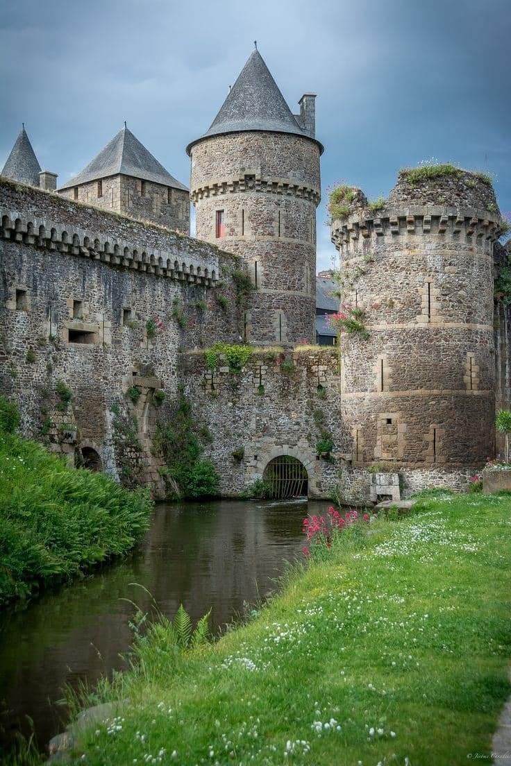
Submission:
<svg viewBox="0 0 511 766">
<path fill-rule="evenodd" d="M 2 391 L 25 434 L 70 459 L 93 449 L 125 483 L 157 487 L 152 394 L 174 397 L 179 349 L 237 339 L 236 259 L 34 188 L 2 181 L 0 191 Z M 65 407 L 59 385 L 72 394 Z"/>
</svg>

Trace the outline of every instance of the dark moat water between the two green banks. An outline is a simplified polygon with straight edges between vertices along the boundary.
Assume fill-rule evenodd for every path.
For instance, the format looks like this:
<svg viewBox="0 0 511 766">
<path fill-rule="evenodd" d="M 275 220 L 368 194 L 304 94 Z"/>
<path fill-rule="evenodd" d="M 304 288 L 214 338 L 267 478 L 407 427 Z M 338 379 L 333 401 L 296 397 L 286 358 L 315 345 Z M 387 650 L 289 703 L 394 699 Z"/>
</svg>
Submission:
<svg viewBox="0 0 511 766">
<path fill-rule="evenodd" d="M 211 630 L 218 633 L 245 602 L 256 604 L 276 588 L 285 562 L 301 555 L 303 517 L 325 508 L 326 502 L 160 504 L 129 558 L 5 613 L 0 753 L 16 732 L 30 733 L 28 718 L 44 748 L 64 728 L 66 709 L 57 704 L 64 685 L 93 686 L 123 667 L 134 613 L 127 600 L 149 611 L 153 597 L 169 617 L 182 603 L 193 620 L 211 608 Z"/>
</svg>

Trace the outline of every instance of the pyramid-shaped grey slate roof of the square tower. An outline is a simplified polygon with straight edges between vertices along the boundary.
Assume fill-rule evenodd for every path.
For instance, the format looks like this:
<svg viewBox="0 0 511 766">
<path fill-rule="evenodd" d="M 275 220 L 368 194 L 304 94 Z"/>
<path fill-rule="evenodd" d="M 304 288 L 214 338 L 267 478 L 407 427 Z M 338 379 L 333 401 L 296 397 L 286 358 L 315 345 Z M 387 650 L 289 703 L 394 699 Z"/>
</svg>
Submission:
<svg viewBox="0 0 511 766">
<path fill-rule="evenodd" d="M 142 178 L 142 181 L 153 181 L 156 184 L 188 191 L 188 188 L 170 175 L 156 157 L 153 157 L 151 152 L 139 142 L 139 139 L 133 136 L 131 130 L 126 128 L 126 123 L 97 157 L 94 157 L 82 172 L 67 181 L 61 188 L 86 184 L 89 181 L 120 173 L 131 175 L 133 178 Z"/>
</svg>

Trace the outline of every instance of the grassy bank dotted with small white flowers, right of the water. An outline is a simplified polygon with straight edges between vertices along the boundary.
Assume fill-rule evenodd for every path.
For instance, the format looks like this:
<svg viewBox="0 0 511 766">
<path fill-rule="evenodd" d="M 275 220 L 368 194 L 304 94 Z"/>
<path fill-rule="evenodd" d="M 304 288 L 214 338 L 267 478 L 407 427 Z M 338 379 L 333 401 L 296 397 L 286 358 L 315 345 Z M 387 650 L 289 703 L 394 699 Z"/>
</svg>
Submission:
<svg viewBox="0 0 511 766">
<path fill-rule="evenodd" d="M 425 496 L 408 519 L 342 533 L 216 644 L 179 653 L 156 624 L 90 700 L 126 700 L 118 718 L 80 735 L 74 758 L 490 762 L 511 692 L 510 524 L 509 496 Z"/>
</svg>

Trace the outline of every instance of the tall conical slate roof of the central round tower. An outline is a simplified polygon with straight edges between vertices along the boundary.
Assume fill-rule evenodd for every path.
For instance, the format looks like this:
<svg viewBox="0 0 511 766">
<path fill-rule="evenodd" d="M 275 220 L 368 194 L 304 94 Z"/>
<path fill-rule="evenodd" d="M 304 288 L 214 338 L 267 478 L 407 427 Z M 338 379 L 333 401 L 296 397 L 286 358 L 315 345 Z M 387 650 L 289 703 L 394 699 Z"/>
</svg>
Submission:
<svg viewBox="0 0 511 766">
<path fill-rule="evenodd" d="M 296 136 L 310 138 L 291 113 L 257 47 L 248 57 L 247 63 L 229 90 L 228 97 L 221 105 L 211 127 L 203 136 L 189 143 L 186 151 L 189 154 L 195 143 L 208 136 L 247 130 L 294 133 Z M 323 150 L 319 141 L 316 143 Z"/>
</svg>

